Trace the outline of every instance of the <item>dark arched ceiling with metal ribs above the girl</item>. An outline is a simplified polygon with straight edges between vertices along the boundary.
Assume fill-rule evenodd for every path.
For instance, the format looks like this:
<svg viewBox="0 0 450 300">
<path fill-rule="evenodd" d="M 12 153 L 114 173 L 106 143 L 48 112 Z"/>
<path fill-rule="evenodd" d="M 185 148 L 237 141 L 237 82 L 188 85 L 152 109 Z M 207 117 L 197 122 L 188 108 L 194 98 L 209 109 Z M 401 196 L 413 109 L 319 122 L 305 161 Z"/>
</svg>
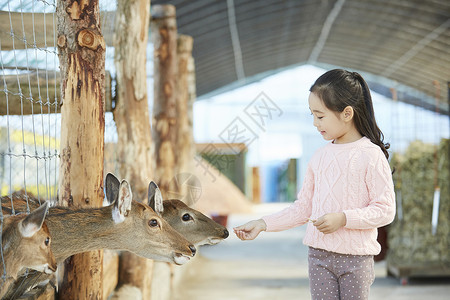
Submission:
<svg viewBox="0 0 450 300">
<path fill-rule="evenodd" d="M 194 38 L 200 98 L 312 64 L 359 71 L 376 92 L 392 97 L 395 89 L 400 101 L 449 112 L 449 0 L 151 4 L 173 4 L 178 32 Z"/>
</svg>

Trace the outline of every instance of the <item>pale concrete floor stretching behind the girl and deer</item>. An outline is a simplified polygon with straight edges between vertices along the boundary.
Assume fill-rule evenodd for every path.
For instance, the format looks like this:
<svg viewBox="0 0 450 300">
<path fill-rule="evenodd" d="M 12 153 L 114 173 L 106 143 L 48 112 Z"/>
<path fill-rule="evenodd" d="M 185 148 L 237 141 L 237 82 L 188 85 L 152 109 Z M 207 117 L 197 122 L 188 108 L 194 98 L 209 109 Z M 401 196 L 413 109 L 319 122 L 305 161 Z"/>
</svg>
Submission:
<svg viewBox="0 0 450 300">
<path fill-rule="evenodd" d="M 264 204 L 251 215 L 231 215 L 232 227 L 278 211 L 283 204 Z M 202 246 L 195 259 L 177 272 L 172 300 L 310 299 L 305 226 L 278 233 L 263 232 L 253 241 L 234 233 L 218 245 Z M 406 286 L 386 275 L 385 262 L 375 264 L 371 300 L 447 300 L 449 278 L 410 279 Z"/>
</svg>

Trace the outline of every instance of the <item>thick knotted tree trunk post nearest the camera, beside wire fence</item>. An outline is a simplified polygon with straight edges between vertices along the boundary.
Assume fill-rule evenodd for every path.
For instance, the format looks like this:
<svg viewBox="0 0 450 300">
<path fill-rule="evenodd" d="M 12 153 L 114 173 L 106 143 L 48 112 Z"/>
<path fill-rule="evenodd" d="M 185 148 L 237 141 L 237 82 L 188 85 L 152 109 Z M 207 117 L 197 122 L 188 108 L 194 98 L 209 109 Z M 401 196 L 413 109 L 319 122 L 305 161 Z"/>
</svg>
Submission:
<svg viewBox="0 0 450 300">
<path fill-rule="evenodd" d="M 106 47 L 98 0 L 58 1 L 57 18 L 62 82 L 59 202 L 100 207 Z M 68 258 L 59 298 L 102 299 L 102 260 L 101 250 Z"/>
</svg>

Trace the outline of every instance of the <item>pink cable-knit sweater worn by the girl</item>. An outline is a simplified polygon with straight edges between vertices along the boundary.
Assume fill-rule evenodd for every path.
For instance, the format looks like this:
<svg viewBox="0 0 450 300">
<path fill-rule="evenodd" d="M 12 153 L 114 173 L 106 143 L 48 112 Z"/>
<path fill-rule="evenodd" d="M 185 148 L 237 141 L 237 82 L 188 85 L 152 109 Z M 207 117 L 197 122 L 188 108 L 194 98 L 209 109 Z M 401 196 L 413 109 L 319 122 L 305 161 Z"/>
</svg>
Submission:
<svg viewBox="0 0 450 300">
<path fill-rule="evenodd" d="M 380 253 L 376 228 L 394 219 L 394 185 L 386 157 L 366 137 L 320 148 L 308 164 L 297 200 L 263 220 L 267 231 L 281 231 L 333 212 L 344 212 L 345 227 L 323 234 L 308 223 L 305 245 L 342 254 Z"/>
</svg>

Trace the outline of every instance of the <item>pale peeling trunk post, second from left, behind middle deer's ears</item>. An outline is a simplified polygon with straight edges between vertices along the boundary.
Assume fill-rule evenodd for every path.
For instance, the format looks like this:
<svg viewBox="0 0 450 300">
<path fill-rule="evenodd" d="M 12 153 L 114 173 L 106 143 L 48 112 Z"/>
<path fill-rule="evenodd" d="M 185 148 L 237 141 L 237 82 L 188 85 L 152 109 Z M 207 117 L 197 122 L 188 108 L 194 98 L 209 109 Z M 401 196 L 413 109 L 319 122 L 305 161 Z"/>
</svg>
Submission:
<svg viewBox="0 0 450 300">
<path fill-rule="evenodd" d="M 150 22 L 150 0 L 119 0 L 115 24 L 117 102 L 117 157 L 120 177 L 131 183 L 133 198 L 147 198 L 153 179 L 151 130 L 147 99 L 146 49 Z M 120 257 L 119 284 L 129 284 L 150 299 L 153 262 L 130 252 Z"/>
</svg>

